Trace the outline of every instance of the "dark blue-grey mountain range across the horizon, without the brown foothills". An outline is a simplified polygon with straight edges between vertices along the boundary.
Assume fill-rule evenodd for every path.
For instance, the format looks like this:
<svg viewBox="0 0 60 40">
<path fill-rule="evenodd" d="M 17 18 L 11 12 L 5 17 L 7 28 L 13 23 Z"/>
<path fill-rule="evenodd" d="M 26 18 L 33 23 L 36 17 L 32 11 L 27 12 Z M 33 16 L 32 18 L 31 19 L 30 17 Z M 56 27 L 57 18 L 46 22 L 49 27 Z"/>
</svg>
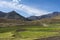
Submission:
<svg viewBox="0 0 60 40">
<path fill-rule="evenodd" d="M 8 13 L 0 11 L 0 19 L 16 19 L 16 20 L 24 20 L 24 21 L 30 21 L 30 20 L 41 20 L 45 18 L 54 18 L 58 16 L 60 18 L 60 12 L 53 12 L 50 14 L 42 15 L 42 16 L 30 16 L 28 18 L 25 18 L 24 16 L 18 14 L 15 11 L 11 11 Z"/>
</svg>

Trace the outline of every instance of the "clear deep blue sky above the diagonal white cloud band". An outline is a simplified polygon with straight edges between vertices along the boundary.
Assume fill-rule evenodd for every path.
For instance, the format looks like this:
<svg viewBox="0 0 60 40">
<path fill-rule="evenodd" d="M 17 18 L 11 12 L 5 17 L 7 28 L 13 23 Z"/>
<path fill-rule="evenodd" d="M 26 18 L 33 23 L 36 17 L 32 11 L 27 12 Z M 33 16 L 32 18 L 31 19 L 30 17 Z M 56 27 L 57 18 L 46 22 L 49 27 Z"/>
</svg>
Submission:
<svg viewBox="0 0 60 40">
<path fill-rule="evenodd" d="M 23 0 L 23 4 L 47 11 L 60 11 L 60 0 Z"/>
</svg>

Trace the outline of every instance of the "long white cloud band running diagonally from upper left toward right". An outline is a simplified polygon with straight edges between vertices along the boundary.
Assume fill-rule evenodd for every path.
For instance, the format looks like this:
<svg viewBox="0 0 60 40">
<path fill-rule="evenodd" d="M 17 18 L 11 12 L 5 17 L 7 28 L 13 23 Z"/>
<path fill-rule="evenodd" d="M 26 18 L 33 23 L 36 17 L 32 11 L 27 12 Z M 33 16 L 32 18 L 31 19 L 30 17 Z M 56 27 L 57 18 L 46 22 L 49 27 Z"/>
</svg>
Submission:
<svg viewBox="0 0 60 40">
<path fill-rule="evenodd" d="M 38 9 L 35 9 L 35 8 L 32 8 L 32 7 L 26 6 L 24 4 L 19 4 L 19 1 L 21 1 L 21 0 L 13 0 L 11 2 L 0 1 L 0 6 L 11 8 L 13 10 L 22 10 L 29 15 L 35 15 L 35 16 L 40 16 L 40 15 L 44 15 L 44 14 L 49 13 L 45 10 L 38 10 Z"/>
</svg>

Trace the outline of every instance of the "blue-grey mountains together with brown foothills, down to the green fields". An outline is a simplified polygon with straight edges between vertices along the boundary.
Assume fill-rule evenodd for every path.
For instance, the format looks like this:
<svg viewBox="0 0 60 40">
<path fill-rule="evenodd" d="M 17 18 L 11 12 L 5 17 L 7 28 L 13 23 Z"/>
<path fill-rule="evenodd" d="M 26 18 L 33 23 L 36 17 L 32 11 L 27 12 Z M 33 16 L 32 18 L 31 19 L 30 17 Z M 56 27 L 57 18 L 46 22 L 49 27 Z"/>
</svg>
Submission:
<svg viewBox="0 0 60 40">
<path fill-rule="evenodd" d="M 60 12 L 53 12 L 42 16 L 30 16 L 25 18 L 15 11 L 8 13 L 0 11 L 0 26 L 7 25 L 43 25 L 44 23 L 60 22 Z"/>
</svg>

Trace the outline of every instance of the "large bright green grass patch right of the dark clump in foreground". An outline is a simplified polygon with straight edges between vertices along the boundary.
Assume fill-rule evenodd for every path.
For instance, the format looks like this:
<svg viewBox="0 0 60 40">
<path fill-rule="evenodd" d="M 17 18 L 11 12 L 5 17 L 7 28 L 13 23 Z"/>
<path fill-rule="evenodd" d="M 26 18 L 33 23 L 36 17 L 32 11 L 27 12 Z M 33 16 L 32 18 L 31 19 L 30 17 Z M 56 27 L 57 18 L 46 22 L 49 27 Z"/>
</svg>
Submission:
<svg viewBox="0 0 60 40">
<path fill-rule="evenodd" d="M 43 38 L 43 37 L 49 37 L 49 36 L 56 36 L 58 34 L 59 34 L 58 32 L 25 31 L 25 32 L 19 32 L 18 36 L 22 38 Z"/>
</svg>

